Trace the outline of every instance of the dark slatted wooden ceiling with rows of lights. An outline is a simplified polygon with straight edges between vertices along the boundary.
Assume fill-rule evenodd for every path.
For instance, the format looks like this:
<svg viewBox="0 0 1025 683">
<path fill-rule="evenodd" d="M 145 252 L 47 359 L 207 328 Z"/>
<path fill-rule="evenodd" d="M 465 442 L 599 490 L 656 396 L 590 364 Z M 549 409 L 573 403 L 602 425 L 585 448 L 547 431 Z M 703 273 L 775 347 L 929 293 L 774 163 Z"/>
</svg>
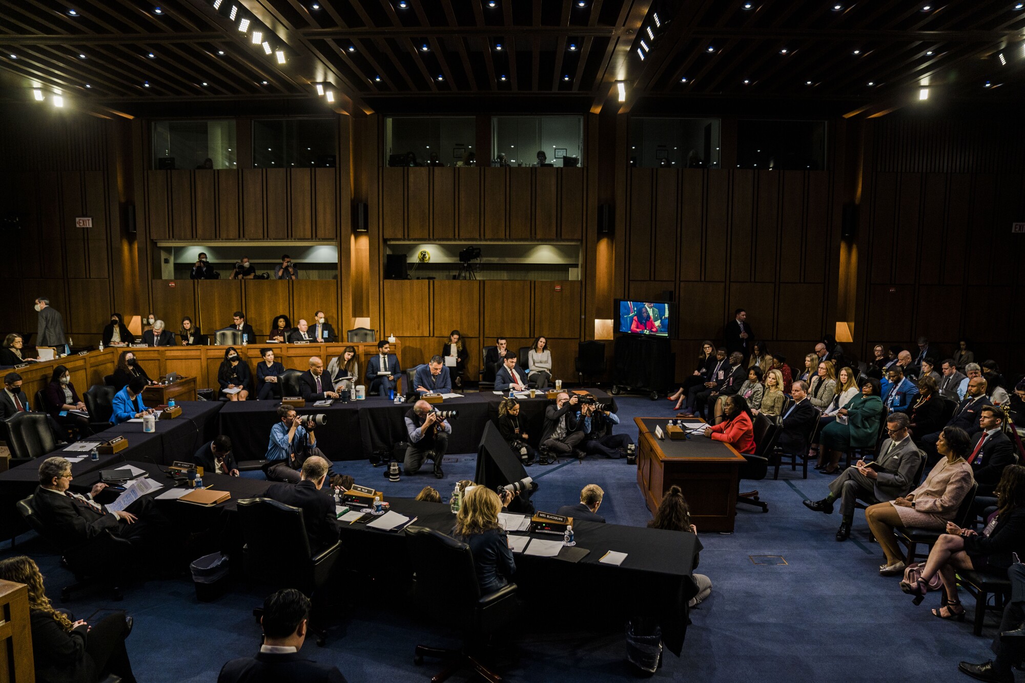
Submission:
<svg viewBox="0 0 1025 683">
<path fill-rule="evenodd" d="M 598 111 L 615 101 L 621 80 L 623 111 L 646 97 L 670 106 L 828 99 L 871 115 L 908 104 L 924 85 L 934 98 L 1008 101 L 1022 96 L 1025 80 L 1025 7 L 1017 0 L 214 4 L 0 3 L 3 95 L 59 89 L 83 108 L 130 111 L 162 102 L 316 102 L 315 83 L 325 82 L 339 111 L 417 102 L 429 111 L 467 98 L 541 110 L 559 95 Z M 252 43 L 253 30 L 270 54 Z"/>
</svg>

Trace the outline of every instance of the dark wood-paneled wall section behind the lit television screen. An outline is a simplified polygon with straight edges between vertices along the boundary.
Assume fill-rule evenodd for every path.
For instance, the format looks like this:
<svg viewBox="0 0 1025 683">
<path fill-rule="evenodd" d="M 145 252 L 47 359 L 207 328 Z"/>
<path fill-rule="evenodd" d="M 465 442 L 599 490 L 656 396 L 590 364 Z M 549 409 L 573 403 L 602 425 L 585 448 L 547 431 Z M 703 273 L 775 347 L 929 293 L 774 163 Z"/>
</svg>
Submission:
<svg viewBox="0 0 1025 683">
<path fill-rule="evenodd" d="M 633 168 L 624 294 L 679 302 L 676 376 L 737 308 L 788 360 L 828 327 L 836 243 L 827 171 Z"/>
</svg>

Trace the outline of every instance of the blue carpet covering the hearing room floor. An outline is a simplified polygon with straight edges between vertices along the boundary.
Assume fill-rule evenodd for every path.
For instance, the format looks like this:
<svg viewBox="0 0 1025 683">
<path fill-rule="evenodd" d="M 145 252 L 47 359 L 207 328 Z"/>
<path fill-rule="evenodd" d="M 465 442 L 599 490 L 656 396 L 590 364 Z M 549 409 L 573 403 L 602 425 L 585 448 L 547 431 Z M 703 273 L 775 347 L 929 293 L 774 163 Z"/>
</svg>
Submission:
<svg viewBox="0 0 1025 683">
<path fill-rule="evenodd" d="M 638 415 L 670 415 L 665 400 L 619 398 L 623 431 L 637 435 Z M 365 461 L 342 463 L 339 469 L 357 483 L 377 486 L 387 494 L 415 495 L 424 485 L 448 497 L 456 481 L 473 478 L 475 455 L 450 456 L 445 478 L 427 474 L 387 482 L 381 469 Z M 601 514 L 609 522 L 643 526 L 651 515 L 637 486 L 636 470 L 624 460 L 576 460 L 564 467 L 532 467 L 538 479 L 534 497 L 541 510 L 575 503 L 584 484 L 606 491 Z M 970 680 L 956 671 L 957 661 L 990 658 L 988 647 L 997 616 L 986 617 L 983 638 L 972 635 L 970 621 L 946 622 L 930 608 L 939 603 L 933 594 L 915 607 L 901 593 L 899 578 L 880 577 L 883 554 L 868 541 L 862 513 L 855 518 L 851 540 L 833 540 L 837 514 L 813 514 L 801 500 L 827 492 L 829 478 L 781 470 L 780 479 L 751 483 L 769 504 L 769 513 L 739 508 L 736 532 L 701 533 L 704 551 L 698 571 L 711 577 L 711 597 L 692 611 L 683 656 L 667 655 L 655 680 L 769 681 L 842 680 L 898 681 L 910 679 Z M 47 591 L 56 599 L 70 574 L 58 558 L 33 534 L 20 536 L 17 554 L 34 557 L 46 574 Z M 9 557 L 9 550 L 0 557 Z M 758 560 L 750 556 L 778 556 Z M 102 609 L 124 609 L 135 617 L 128 651 L 138 680 L 144 682 L 214 681 L 221 665 L 256 650 L 259 629 L 253 606 L 262 594 L 240 585 L 214 603 L 196 600 L 186 580 L 149 581 L 125 593 L 121 603 L 84 592 L 61 605 L 76 617 L 88 618 Z M 970 614 L 975 603 L 961 594 Z M 574 609 L 577 607 L 574 606 Z M 593 609 L 601 609 L 594 596 Z M 394 611 L 360 610 L 343 630 L 331 632 L 326 648 L 308 643 L 303 653 L 338 666 L 351 681 L 426 680 L 437 671 L 429 664 L 412 662 L 416 643 L 454 645 L 446 629 Z M 631 680 L 624 662 L 621 631 L 561 633 L 521 638 L 521 656 L 502 669 L 510 681 Z M 453 681 L 471 680 L 467 674 Z"/>
</svg>

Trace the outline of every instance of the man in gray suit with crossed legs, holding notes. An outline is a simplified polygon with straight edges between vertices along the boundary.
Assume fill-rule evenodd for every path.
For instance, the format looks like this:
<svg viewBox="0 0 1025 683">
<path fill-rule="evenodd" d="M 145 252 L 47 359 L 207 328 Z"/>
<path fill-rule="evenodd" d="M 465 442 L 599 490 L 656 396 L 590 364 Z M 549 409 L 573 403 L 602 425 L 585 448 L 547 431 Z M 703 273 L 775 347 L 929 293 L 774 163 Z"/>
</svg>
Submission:
<svg viewBox="0 0 1025 683">
<path fill-rule="evenodd" d="M 839 529 L 836 540 L 847 540 L 854 522 L 854 504 L 861 499 L 868 505 L 895 500 L 914 488 L 914 480 L 921 464 L 921 455 L 908 433 L 910 419 L 903 412 L 887 417 L 890 438 L 879 445 L 879 456 L 866 465 L 858 460 L 857 467 L 848 468 L 829 484 L 829 495 L 821 500 L 805 500 L 805 506 L 815 512 L 832 514 L 833 501 L 840 499 Z"/>
</svg>

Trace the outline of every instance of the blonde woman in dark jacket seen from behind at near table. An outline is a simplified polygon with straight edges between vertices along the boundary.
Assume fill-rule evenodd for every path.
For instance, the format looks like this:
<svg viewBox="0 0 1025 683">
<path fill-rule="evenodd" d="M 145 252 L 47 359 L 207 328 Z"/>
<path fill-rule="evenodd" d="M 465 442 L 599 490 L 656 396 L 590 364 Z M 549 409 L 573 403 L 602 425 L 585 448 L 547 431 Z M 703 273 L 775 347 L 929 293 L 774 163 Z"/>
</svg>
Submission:
<svg viewBox="0 0 1025 683">
<path fill-rule="evenodd" d="M 502 500 L 486 486 L 475 486 L 462 497 L 452 536 L 469 546 L 481 595 L 494 593 L 508 584 L 516 572 L 505 529 L 498 523 Z"/>
</svg>

